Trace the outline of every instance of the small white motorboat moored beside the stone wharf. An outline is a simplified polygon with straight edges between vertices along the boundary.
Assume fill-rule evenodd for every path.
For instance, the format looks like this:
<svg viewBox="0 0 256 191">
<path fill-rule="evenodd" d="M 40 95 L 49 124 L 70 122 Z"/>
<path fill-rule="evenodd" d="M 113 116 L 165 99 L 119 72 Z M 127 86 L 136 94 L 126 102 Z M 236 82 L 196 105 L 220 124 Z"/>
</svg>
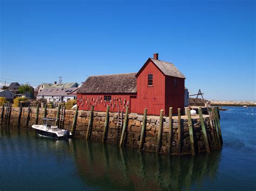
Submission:
<svg viewBox="0 0 256 191">
<path fill-rule="evenodd" d="M 52 125 L 55 118 L 43 118 L 43 125 L 32 125 L 37 134 L 42 137 L 50 137 L 55 139 L 71 138 L 72 133 L 69 130 L 59 129 L 58 126 Z"/>
</svg>

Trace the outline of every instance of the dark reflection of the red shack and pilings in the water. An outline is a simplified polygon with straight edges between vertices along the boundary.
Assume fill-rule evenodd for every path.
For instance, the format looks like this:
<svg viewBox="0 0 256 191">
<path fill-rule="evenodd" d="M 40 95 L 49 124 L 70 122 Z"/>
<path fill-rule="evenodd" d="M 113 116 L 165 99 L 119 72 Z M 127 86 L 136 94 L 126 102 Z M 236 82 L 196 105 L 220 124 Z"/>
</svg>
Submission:
<svg viewBox="0 0 256 191">
<path fill-rule="evenodd" d="M 77 161 L 79 165 L 83 164 L 83 167 L 78 165 L 79 174 L 86 183 L 89 181 L 91 185 L 102 185 L 102 188 L 113 182 L 113 189 L 199 188 L 205 178 L 212 178 L 217 173 L 219 166 L 219 152 L 195 157 L 166 156 L 100 143 L 85 144 L 86 152 L 80 152 L 80 147 L 76 151 L 84 154 L 78 159 L 83 162 Z M 90 176 L 100 176 L 100 180 Z"/>
</svg>

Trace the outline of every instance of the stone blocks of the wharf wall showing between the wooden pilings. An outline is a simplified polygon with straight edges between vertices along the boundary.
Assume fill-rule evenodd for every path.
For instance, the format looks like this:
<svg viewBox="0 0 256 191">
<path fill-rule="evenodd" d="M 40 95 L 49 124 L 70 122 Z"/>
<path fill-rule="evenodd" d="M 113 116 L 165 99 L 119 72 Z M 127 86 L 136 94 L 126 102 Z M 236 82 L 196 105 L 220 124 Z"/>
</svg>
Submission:
<svg viewBox="0 0 256 191">
<path fill-rule="evenodd" d="M 1 111 L 2 112 L 2 108 Z M 38 124 L 42 124 L 44 109 L 39 109 L 39 120 Z M 10 125 L 17 125 L 18 121 L 19 108 L 12 108 Z M 66 110 L 64 118 L 64 129 L 71 130 L 73 118 L 75 111 Z M 21 117 L 21 127 L 20 128 L 31 128 L 31 125 L 35 124 L 36 121 L 36 108 L 31 108 L 29 126 L 25 127 L 26 119 L 28 115 L 28 108 L 23 108 L 22 117 Z M 48 109 L 47 117 L 56 117 L 57 109 Z M 93 112 L 93 125 L 91 132 L 91 140 L 102 141 L 103 130 L 105 124 L 105 112 Z M 118 114 L 110 113 L 109 114 L 109 130 L 107 132 L 106 143 L 117 144 L 117 128 L 118 128 Z M 85 138 L 87 127 L 89 123 L 90 111 L 78 111 L 77 126 L 75 137 Z M 208 137 L 208 143 L 211 150 L 217 148 L 214 144 L 214 131 L 210 125 L 210 118 L 208 115 L 203 115 L 205 121 L 205 128 Z M 129 147 L 138 148 L 140 133 L 142 131 L 142 121 L 143 116 L 137 114 L 129 114 L 129 121 L 127 132 L 125 135 L 124 144 Z M 143 146 L 144 151 L 156 152 L 157 147 L 157 137 L 159 130 L 159 116 L 147 116 L 146 118 L 146 133 L 145 133 L 145 142 Z M 173 121 L 173 143 L 172 143 L 172 154 L 191 154 L 190 146 L 190 133 L 188 130 L 188 121 L 187 116 L 181 116 L 181 152 L 179 152 L 178 147 L 178 117 L 172 117 Z M 194 147 L 196 152 L 205 152 L 206 146 L 204 143 L 203 132 L 201 129 L 199 116 L 192 116 L 192 127 L 193 127 L 193 137 L 194 137 Z M 169 147 L 169 118 L 164 117 L 163 119 L 163 139 L 160 153 L 167 154 Z"/>
</svg>

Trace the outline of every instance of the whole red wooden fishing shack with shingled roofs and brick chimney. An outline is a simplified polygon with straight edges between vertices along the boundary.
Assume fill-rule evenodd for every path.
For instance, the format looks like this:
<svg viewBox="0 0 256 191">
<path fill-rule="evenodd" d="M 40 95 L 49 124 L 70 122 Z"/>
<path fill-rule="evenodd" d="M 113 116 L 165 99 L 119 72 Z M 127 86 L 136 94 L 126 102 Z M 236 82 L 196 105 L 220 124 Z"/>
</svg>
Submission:
<svg viewBox="0 0 256 191">
<path fill-rule="evenodd" d="M 130 112 L 159 115 L 160 109 L 168 115 L 184 107 L 185 76 L 169 62 L 158 60 L 158 54 L 149 58 L 138 73 L 90 76 L 77 91 L 79 109 L 117 112 L 130 107 Z"/>
</svg>

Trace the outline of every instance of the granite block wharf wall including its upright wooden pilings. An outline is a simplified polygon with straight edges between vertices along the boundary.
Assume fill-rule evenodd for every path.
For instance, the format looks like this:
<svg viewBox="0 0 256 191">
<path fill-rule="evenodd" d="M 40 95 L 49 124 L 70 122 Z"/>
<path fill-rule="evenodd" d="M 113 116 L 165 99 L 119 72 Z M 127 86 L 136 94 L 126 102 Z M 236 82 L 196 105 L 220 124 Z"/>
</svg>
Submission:
<svg viewBox="0 0 256 191">
<path fill-rule="evenodd" d="M 57 117 L 58 123 L 63 123 L 63 128 L 75 137 L 143 151 L 194 154 L 211 152 L 223 144 L 219 116 L 217 110 L 214 113 L 214 108 L 210 115 L 169 117 L 163 116 L 163 110 L 162 116 L 127 113 L 127 117 L 113 112 L 65 110 L 63 122 L 59 122 L 61 110 L 58 109 L 0 108 L 3 124 L 32 129 L 31 125 L 36 122 L 43 123 L 43 117 Z"/>
</svg>

